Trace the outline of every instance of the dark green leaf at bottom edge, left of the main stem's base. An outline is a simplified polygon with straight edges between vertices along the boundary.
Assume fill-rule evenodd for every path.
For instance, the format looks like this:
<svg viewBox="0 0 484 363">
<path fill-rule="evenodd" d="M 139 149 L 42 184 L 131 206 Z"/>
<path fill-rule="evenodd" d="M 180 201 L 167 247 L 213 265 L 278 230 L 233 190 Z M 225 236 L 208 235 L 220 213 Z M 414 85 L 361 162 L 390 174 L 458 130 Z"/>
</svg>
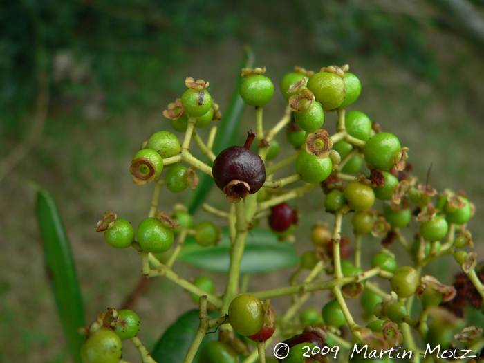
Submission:
<svg viewBox="0 0 484 363">
<path fill-rule="evenodd" d="M 210 319 L 215 319 L 218 316 L 218 313 L 214 311 L 208 312 Z M 167 328 L 158 342 L 156 342 L 151 352 L 151 357 L 156 362 L 182 363 L 188 348 L 193 342 L 199 324 L 198 309 L 190 310 L 180 316 L 174 324 Z M 215 340 L 218 340 L 218 334 L 205 335 L 193 360 L 194 363 L 198 362 L 198 355 L 200 354 L 201 348 L 208 342 Z"/>
</svg>

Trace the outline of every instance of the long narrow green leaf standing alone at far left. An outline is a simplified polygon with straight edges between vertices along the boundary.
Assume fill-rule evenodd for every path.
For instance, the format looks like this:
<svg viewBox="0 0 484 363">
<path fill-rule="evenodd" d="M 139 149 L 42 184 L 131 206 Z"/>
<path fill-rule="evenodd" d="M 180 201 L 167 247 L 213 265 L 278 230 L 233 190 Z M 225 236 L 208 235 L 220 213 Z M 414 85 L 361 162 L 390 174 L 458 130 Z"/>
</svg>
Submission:
<svg viewBox="0 0 484 363">
<path fill-rule="evenodd" d="M 71 248 L 52 196 L 45 189 L 37 188 L 37 220 L 48 277 L 73 359 L 81 362 L 80 348 L 84 338 L 77 333 L 77 328 L 84 326 L 84 309 Z"/>
</svg>

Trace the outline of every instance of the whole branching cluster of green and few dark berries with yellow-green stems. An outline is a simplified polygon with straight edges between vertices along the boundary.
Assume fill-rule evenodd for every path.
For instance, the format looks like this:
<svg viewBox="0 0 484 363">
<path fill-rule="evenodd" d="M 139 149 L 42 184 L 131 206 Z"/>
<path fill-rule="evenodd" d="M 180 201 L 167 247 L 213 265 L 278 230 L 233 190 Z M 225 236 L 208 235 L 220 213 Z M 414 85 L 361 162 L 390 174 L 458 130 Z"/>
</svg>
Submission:
<svg viewBox="0 0 484 363">
<path fill-rule="evenodd" d="M 474 252 L 465 250 L 473 247 L 467 222 L 474 215 L 474 205 L 462 192 L 446 189 L 438 193 L 428 180 L 418 183 L 406 161 L 409 149 L 402 147 L 393 133 L 382 132 L 380 125 L 360 111 L 346 112 L 361 93 L 360 80 L 348 71 L 347 65 L 326 66 L 317 73 L 296 67 L 280 84 L 281 100 L 287 103 L 285 115 L 272 129 L 264 130 L 263 106 L 272 99 L 274 84 L 264 75 L 266 68 L 243 68 L 239 93 L 245 104 L 254 107 L 255 131 L 248 131 L 245 145 L 230 146 L 218 155 L 212 150 L 216 126 L 212 126 L 206 143 L 196 128 L 221 120 L 221 112 L 207 91 L 209 83 L 187 77 L 187 90 L 164 113 L 174 131 L 184 133 L 183 141 L 174 133 L 158 131 L 133 156 L 129 171 L 134 183 L 154 185 L 149 216 L 139 223 L 135 235 L 131 223 L 106 212 L 97 231 L 104 232 L 114 248 L 136 248 L 145 277 L 167 277 L 199 304 L 200 325 L 184 362 L 235 363 L 239 356 L 245 357 L 245 363 L 257 357 L 266 362 L 266 342 L 274 339 L 289 346 L 287 357 L 280 359 L 286 363 L 327 362 L 324 352 L 334 347 L 344 351 L 342 362 L 366 359 L 348 358 L 352 343 L 366 344 L 376 352 L 370 355 L 370 362 L 389 361 L 389 355 L 381 358 L 380 353 L 401 344 L 413 352 L 411 362 L 419 362 L 418 353 L 426 344 L 440 344 L 451 351 L 459 346 L 480 351 L 484 346 L 482 328 L 471 326 L 458 333 L 463 321 L 445 307 L 454 299 L 463 301 L 464 295 L 474 293 L 481 298 L 478 301 L 484 297 L 482 266 L 477 266 Z M 325 114 L 331 111 L 337 120 L 325 123 Z M 283 140 L 279 144 L 275 138 L 283 129 L 295 152 L 277 160 Z M 192 155 L 191 140 L 212 166 Z M 250 149 L 255 140 L 257 153 Z M 167 169 L 165 176 L 163 169 Z M 292 174 L 274 178 L 283 169 L 292 170 Z M 187 281 L 171 269 L 189 244 L 185 243 L 189 237 L 199 250 L 216 249 L 222 239 L 221 228 L 211 221 L 194 223 L 183 205 L 176 205 L 169 215 L 157 212 L 160 188 L 166 186 L 174 193 L 197 188 L 197 170 L 212 177 L 230 202 L 227 210 L 203 205 L 205 212 L 228 225 L 225 239 L 230 245 L 230 265 L 223 293 L 216 292 L 216 284 L 205 274 Z M 292 183 L 298 184 L 284 188 Z M 324 223 L 313 227 L 313 248 L 301 254 L 288 286 L 248 294 L 247 281 L 240 281 L 248 235 L 261 228 L 260 222 L 267 218 L 280 243 L 295 242 L 292 232 L 304 210 L 299 212 L 289 203 L 308 193 L 322 202 L 321 212 L 331 216 L 333 227 Z M 344 218 L 351 219 L 351 237 L 342 235 Z M 418 232 L 409 243 L 405 230 L 412 224 L 418 226 Z M 366 239 L 372 243 L 369 234 L 373 243 L 380 239 L 384 248 L 369 259 L 369 270 L 364 270 L 362 248 Z M 395 248 L 397 244 L 400 247 Z M 411 266 L 398 265 L 395 254 L 402 251 L 409 254 Z M 423 272 L 431 261 L 446 257 L 454 257 L 463 269 L 460 288 Z M 306 274 L 302 281 L 301 274 Z M 382 290 L 378 279 L 389 281 L 390 290 Z M 330 292 L 326 301 L 317 308 L 304 308 L 298 315 L 310 295 L 319 290 Z M 292 304 L 286 312 L 276 314 L 270 299 L 288 295 Z M 421 305 L 418 313 L 413 311 L 416 298 Z M 357 323 L 360 319 L 349 310 L 351 299 L 360 301 L 364 324 Z M 210 319 L 207 310 L 216 310 L 219 317 Z M 462 309 L 459 311 L 462 314 Z M 212 328 L 218 329 L 218 340 L 203 343 Z M 97 322 L 81 329 L 86 336 L 83 362 L 125 362 L 121 340 L 131 339 L 143 362 L 153 363 L 136 337 L 138 329 L 138 317 L 130 310 L 102 313 Z M 421 342 L 416 342 L 412 331 Z M 251 352 L 252 342 L 257 348 Z M 313 352 L 309 357 L 303 355 L 306 348 Z M 435 353 L 429 359 L 425 362 L 443 361 Z"/>
</svg>

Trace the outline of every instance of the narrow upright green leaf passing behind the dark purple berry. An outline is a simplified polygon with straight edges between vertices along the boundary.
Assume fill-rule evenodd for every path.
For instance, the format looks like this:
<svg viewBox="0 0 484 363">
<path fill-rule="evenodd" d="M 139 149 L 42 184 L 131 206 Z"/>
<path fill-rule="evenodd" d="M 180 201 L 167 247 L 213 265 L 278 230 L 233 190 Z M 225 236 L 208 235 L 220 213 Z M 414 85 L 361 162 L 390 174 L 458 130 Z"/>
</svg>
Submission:
<svg viewBox="0 0 484 363">
<path fill-rule="evenodd" d="M 241 68 L 252 68 L 254 66 L 254 53 L 250 46 L 245 47 L 245 56 Z M 223 113 L 223 118 L 218 127 L 216 138 L 214 141 L 213 151 L 215 155 L 218 155 L 221 151 L 235 144 L 237 138 L 237 131 L 239 130 L 239 124 L 241 122 L 242 113 L 245 110 L 245 102 L 239 93 L 243 77 L 239 75 L 237 82 L 232 91 L 230 98 L 229 108 Z M 208 161 L 208 160 L 207 160 Z M 203 174 L 200 177 L 200 183 L 198 183 L 195 192 L 190 198 L 190 202 L 187 203 L 190 214 L 194 214 L 198 207 L 200 207 L 207 198 L 210 189 L 214 186 L 214 180 Z"/>
</svg>

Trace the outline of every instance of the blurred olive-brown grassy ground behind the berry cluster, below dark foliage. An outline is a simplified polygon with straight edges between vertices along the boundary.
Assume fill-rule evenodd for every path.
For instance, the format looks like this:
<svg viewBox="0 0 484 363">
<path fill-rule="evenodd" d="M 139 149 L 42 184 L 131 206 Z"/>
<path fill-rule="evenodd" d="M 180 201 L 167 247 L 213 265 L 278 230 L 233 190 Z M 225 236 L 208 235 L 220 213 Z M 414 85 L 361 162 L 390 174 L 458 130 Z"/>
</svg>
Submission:
<svg viewBox="0 0 484 363">
<path fill-rule="evenodd" d="M 268 31 L 263 24 L 259 26 L 260 32 Z M 340 55 L 363 85 L 362 95 L 351 109 L 366 113 L 384 131 L 395 133 L 402 145 L 409 147 L 409 161 L 415 167 L 416 176 L 425 179 L 432 165 L 432 186 L 438 190 L 448 187 L 467 193 L 477 207 L 469 230 L 474 236 L 476 252 L 482 255 L 484 249 L 479 243 L 484 238 L 481 212 L 484 208 L 484 70 L 480 66 L 481 55 L 454 35 L 429 29 L 427 36 L 441 69 L 436 80 L 420 77 L 382 54 L 371 57 Z M 297 40 L 292 39 L 292 42 Z M 269 44 L 267 35 L 254 42 L 257 66 L 266 66 L 268 77 L 276 85 L 294 65 L 313 69 L 327 65 L 325 59 L 315 55 L 305 58 L 304 53 L 295 54 L 297 52 L 290 48 L 273 49 Z M 237 66 L 242 53 L 241 42 L 232 39 L 204 46 L 197 49 L 197 57 L 182 68 L 174 65 L 168 79 L 182 86 L 187 75 L 210 80 L 212 97 L 223 112 L 239 72 Z M 159 82 L 164 81 L 165 77 L 160 75 Z M 182 89 L 180 87 L 178 89 Z M 95 223 L 106 210 L 114 210 L 133 225 L 147 215 L 151 185 L 134 185 L 128 172 L 129 163 L 143 140 L 156 131 L 169 129 L 162 111 L 176 97 L 178 93 L 168 91 L 161 93 L 151 107 L 130 104 L 120 113 L 112 113 L 101 106 L 100 113 L 91 120 L 85 117 L 79 105 L 69 109 L 66 100 L 52 100 L 39 145 L 0 184 L 0 362 L 69 362 L 44 273 L 34 214 L 35 191 L 30 187 L 30 180 L 46 187 L 57 201 L 77 263 L 86 319 L 91 322 L 107 306 L 120 306 L 140 279 L 140 259 L 134 250 L 110 248 L 95 232 Z M 264 112 L 268 126 L 279 120 L 284 106 L 277 89 L 274 100 Z M 71 122 L 72 118 L 77 122 Z M 335 114 L 327 113 L 324 128 L 332 132 L 335 120 Z M 26 120 L 25 124 L 28 122 Z M 251 127 L 254 127 L 254 111 L 248 108 L 241 135 Z M 279 139 L 283 145 L 280 158 L 283 158 L 290 148 L 283 135 Z M 7 138 L 2 142 L 8 145 L 0 155 L 5 157 L 14 145 Z M 169 210 L 171 205 L 186 198 L 187 192 L 180 195 L 165 192 L 160 197 L 160 209 Z M 214 205 L 225 205 L 218 189 L 212 190 L 210 200 Z M 295 232 L 299 252 L 310 248 L 308 236 L 313 223 L 331 222 L 331 216 L 322 212 L 323 201 L 322 193 L 315 191 L 293 203 L 303 215 Z M 210 217 L 203 212 L 196 215 L 196 221 L 203 218 Z M 348 225 L 344 227 L 351 235 Z M 414 232 L 416 225 L 411 225 L 409 236 Z M 364 247 L 373 252 L 380 248 L 378 241 L 373 239 Z M 364 267 L 369 267 L 369 256 L 371 254 L 365 255 Z M 452 273 L 457 270 L 452 263 L 451 258 L 434 263 L 429 271 L 451 283 Z M 186 278 L 201 273 L 183 264 L 176 265 L 174 270 Z M 249 290 L 283 286 L 291 272 L 254 277 Z M 221 292 L 225 277 L 212 276 Z M 321 308 L 326 299 L 326 292 L 318 292 L 308 305 Z M 276 312 L 280 313 L 288 303 L 288 298 L 275 299 Z M 168 281 L 152 283 L 136 304 L 135 310 L 142 323 L 140 338 L 147 346 L 152 346 L 180 313 L 194 307 L 185 292 Z M 126 349 L 125 359 L 139 360 L 131 348 Z"/>
</svg>

